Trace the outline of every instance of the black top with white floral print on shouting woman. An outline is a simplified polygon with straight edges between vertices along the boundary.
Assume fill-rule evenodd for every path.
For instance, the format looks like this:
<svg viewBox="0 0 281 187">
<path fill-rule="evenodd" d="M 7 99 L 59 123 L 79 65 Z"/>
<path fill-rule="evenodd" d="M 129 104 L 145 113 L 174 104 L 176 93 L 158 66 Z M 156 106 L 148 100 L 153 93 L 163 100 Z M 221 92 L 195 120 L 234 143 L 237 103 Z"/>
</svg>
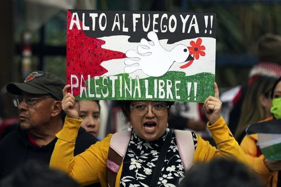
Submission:
<svg viewBox="0 0 281 187">
<path fill-rule="evenodd" d="M 157 159 L 167 133 L 155 141 L 145 141 L 134 131 L 123 162 L 120 186 L 149 187 Z M 196 135 L 192 132 L 194 148 L 197 145 Z M 184 167 L 179 156 L 174 131 L 165 163 L 160 173 L 157 186 L 176 187 L 184 177 Z"/>
</svg>

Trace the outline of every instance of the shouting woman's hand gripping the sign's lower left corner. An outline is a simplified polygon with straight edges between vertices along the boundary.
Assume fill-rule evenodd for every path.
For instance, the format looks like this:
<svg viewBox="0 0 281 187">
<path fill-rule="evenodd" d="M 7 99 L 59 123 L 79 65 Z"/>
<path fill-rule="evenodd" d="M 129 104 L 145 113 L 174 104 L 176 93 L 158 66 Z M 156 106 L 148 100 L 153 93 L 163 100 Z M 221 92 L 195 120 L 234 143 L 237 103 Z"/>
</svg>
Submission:
<svg viewBox="0 0 281 187">
<path fill-rule="evenodd" d="M 69 118 L 78 119 L 80 111 L 79 101 L 75 101 L 75 97 L 71 93 L 67 93 L 67 89 L 70 88 L 70 85 L 64 86 L 62 93 L 64 98 L 61 101 L 62 109 Z"/>
</svg>

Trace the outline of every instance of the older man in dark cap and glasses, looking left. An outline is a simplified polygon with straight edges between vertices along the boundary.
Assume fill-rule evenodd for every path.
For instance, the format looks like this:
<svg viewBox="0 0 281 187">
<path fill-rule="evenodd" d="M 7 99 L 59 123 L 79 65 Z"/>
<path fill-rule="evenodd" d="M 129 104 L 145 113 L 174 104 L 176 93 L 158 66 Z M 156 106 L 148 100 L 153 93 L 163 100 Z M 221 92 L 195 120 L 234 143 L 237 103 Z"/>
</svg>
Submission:
<svg viewBox="0 0 281 187">
<path fill-rule="evenodd" d="M 49 164 L 57 138 L 64 125 L 61 107 L 65 83 L 48 72 L 31 73 L 24 83 L 9 83 L 9 93 L 19 95 L 13 100 L 18 107 L 20 126 L 0 142 L 0 179 L 27 160 Z M 74 149 L 77 155 L 97 139 L 80 128 Z"/>
</svg>

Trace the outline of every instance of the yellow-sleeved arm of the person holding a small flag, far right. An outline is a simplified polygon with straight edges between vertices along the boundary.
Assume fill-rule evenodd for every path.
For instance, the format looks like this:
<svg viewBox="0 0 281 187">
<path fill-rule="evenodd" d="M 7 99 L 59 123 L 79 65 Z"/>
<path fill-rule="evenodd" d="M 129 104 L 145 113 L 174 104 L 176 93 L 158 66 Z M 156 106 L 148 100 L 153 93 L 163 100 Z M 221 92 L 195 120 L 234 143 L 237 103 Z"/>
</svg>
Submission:
<svg viewBox="0 0 281 187">
<path fill-rule="evenodd" d="M 264 164 L 264 156 L 256 156 L 257 155 L 257 146 L 256 140 L 258 139 L 257 134 L 247 135 L 241 141 L 240 147 L 242 151 L 245 153 L 247 160 L 249 161 L 251 167 L 254 171 L 256 171 L 264 183 L 271 183 L 271 179 L 276 175 L 277 172 L 270 172 L 268 168 Z M 268 186 L 268 185 L 267 185 Z M 269 185 L 270 186 L 270 185 Z"/>
</svg>

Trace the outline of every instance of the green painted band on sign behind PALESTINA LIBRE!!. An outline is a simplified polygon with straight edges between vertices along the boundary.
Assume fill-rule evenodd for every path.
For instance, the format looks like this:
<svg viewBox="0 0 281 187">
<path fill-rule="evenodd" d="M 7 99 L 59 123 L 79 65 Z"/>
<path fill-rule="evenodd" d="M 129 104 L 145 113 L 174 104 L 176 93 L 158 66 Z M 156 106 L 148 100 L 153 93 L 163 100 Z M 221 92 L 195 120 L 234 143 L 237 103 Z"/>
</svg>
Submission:
<svg viewBox="0 0 281 187">
<path fill-rule="evenodd" d="M 157 71 L 157 70 L 155 70 Z M 169 71 L 161 77 L 129 77 L 128 74 L 100 76 L 85 81 L 80 100 L 156 100 L 201 102 L 214 96 L 215 75 L 208 72 L 185 76 Z"/>
</svg>

